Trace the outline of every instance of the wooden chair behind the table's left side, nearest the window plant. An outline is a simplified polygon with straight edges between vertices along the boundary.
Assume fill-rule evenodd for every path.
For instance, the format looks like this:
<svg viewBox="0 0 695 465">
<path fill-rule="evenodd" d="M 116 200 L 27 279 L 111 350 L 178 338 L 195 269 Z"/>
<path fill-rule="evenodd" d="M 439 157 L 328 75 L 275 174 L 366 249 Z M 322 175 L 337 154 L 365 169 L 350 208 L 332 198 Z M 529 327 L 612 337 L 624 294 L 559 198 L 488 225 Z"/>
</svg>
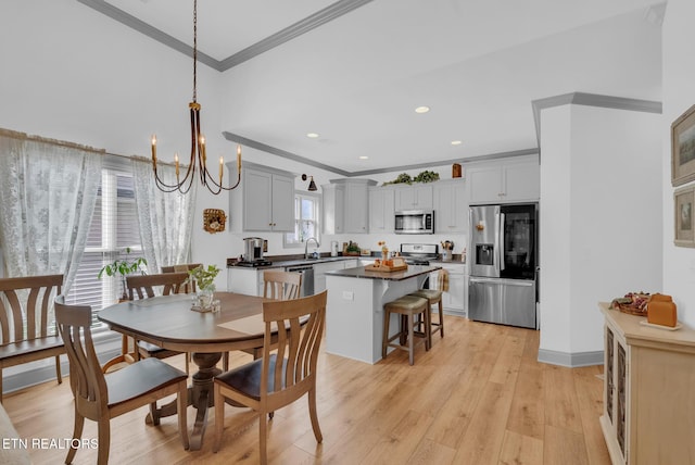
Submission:
<svg viewBox="0 0 695 465">
<path fill-rule="evenodd" d="M 188 273 L 184 272 L 126 276 L 128 299 L 139 300 L 155 296 L 182 293 L 186 290 L 187 278 Z M 103 372 L 109 373 L 116 365 L 134 363 L 143 357 L 166 359 L 180 353 L 162 349 L 146 341 L 134 341 L 132 349 L 130 349 L 130 338 L 124 335 L 121 342 L 121 354 L 108 361 L 103 366 Z M 186 373 L 189 373 L 189 354 L 186 354 Z"/>
</svg>

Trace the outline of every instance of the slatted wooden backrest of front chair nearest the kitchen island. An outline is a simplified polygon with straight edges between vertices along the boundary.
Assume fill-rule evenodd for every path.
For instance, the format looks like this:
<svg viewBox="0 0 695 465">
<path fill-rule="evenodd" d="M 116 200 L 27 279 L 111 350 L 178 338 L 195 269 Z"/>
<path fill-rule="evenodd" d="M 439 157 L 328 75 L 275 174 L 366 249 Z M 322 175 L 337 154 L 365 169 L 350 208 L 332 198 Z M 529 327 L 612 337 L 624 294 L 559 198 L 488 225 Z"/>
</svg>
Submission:
<svg viewBox="0 0 695 465">
<path fill-rule="evenodd" d="M 267 392 L 268 376 L 275 380 L 274 392 L 268 393 L 268 398 L 281 395 L 288 389 L 301 390 L 315 382 L 326 321 L 326 296 L 327 292 L 324 291 L 301 299 L 263 303 L 265 340 L 261 392 Z M 276 328 L 277 345 L 273 343 Z M 270 355 L 274 349 L 277 349 L 276 363 L 275 370 L 270 374 Z"/>
</svg>

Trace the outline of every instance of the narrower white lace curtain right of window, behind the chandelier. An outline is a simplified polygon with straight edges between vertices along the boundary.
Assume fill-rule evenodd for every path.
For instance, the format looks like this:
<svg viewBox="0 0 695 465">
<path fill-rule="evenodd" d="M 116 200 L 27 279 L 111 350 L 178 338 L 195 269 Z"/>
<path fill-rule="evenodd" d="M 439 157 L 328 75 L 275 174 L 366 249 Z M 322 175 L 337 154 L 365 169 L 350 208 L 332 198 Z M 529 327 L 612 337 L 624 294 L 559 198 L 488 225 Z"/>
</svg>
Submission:
<svg viewBox="0 0 695 465">
<path fill-rule="evenodd" d="M 157 175 L 175 180 L 174 166 L 157 164 Z M 195 179 L 188 193 L 162 192 L 154 183 L 152 163 L 134 159 L 135 200 L 140 221 L 140 237 L 150 273 L 162 266 L 186 263 L 190 257 Z"/>
</svg>

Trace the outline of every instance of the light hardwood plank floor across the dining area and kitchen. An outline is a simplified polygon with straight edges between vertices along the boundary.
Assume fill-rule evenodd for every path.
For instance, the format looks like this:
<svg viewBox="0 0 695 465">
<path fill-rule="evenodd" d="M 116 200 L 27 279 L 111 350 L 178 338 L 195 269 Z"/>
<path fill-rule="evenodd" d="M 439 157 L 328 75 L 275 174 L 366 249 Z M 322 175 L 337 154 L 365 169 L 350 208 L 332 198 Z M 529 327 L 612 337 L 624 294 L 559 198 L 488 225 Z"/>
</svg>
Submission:
<svg viewBox="0 0 695 465">
<path fill-rule="evenodd" d="M 376 365 L 319 357 L 317 444 L 301 400 L 270 422 L 274 464 L 610 464 L 598 417 L 602 366 L 564 368 L 536 362 L 539 332 L 445 317 L 445 337 L 421 347 L 415 365 L 396 351 Z M 167 359 L 180 366 L 182 356 Z M 232 363 L 250 360 L 236 354 Z M 4 407 L 29 440 L 35 464 L 65 460 L 66 450 L 31 448 L 33 439 L 70 438 L 70 382 L 5 395 Z M 212 452 L 214 413 L 202 450 L 185 451 L 176 419 L 144 424 L 147 407 L 112 420 L 111 463 L 230 464 L 258 462 L 258 425 L 226 406 L 225 432 Z M 189 411 L 192 425 L 194 411 Z M 87 422 L 83 438 L 97 438 Z M 49 444 L 50 445 L 50 444 Z M 60 444 L 58 444 L 60 445 Z M 92 464 L 97 451 L 77 452 Z"/>
</svg>

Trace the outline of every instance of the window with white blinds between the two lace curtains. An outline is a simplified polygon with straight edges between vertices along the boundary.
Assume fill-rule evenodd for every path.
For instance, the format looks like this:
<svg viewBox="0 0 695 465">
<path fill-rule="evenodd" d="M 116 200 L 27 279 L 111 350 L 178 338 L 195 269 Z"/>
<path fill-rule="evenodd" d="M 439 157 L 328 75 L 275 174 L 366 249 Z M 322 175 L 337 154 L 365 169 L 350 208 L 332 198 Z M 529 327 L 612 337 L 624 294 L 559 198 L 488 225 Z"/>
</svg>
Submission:
<svg viewBox="0 0 695 465">
<path fill-rule="evenodd" d="M 98 279 L 97 275 L 114 260 L 134 256 L 142 256 L 142 248 L 130 164 L 124 159 L 110 160 L 101 172 L 87 246 L 66 302 L 90 305 L 94 312 L 117 302 L 122 280 L 105 275 Z"/>
</svg>

